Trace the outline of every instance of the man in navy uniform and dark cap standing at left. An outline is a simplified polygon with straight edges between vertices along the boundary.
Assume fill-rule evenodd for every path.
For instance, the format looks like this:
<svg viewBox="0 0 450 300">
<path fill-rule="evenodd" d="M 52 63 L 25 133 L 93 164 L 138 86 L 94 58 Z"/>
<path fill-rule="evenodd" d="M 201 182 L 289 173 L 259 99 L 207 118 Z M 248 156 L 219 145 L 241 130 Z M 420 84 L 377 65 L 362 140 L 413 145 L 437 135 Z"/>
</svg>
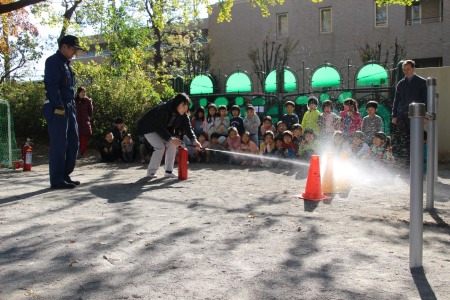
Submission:
<svg viewBox="0 0 450 300">
<path fill-rule="evenodd" d="M 77 37 L 66 35 L 58 41 L 59 49 L 45 61 L 44 84 L 47 100 L 42 115 L 47 121 L 50 184 L 54 189 L 79 185 L 70 174 L 78 152 L 78 125 L 74 103 L 75 78 L 70 60 L 83 50 Z"/>
</svg>

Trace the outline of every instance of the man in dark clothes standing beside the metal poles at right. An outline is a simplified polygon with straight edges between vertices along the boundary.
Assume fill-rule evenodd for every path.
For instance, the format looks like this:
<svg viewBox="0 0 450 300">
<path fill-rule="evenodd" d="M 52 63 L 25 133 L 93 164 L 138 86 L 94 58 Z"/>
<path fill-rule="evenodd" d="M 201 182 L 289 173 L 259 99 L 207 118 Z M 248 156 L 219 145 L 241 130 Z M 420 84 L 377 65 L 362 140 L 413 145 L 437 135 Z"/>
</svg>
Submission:
<svg viewBox="0 0 450 300">
<path fill-rule="evenodd" d="M 409 163 L 410 148 L 410 120 L 408 118 L 409 105 L 413 102 L 427 104 L 427 81 L 416 75 L 416 64 L 412 60 L 405 60 L 402 65 L 405 77 L 400 80 L 395 89 L 395 99 L 392 108 L 392 123 L 397 125 L 399 135 L 399 149 Z"/>
</svg>

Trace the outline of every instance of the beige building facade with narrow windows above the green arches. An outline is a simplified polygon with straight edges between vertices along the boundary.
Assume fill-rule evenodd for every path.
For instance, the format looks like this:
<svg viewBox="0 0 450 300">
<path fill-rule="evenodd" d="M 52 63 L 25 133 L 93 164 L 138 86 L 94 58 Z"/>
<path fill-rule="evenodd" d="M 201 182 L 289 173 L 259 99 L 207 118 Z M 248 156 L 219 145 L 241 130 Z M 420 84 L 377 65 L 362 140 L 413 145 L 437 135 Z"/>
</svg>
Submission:
<svg viewBox="0 0 450 300">
<path fill-rule="evenodd" d="M 214 55 L 211 72 L 229 74 L 237 70 L 252 72 L 248 50 L 262 48 L 266 36 L 283 44 L 299 41 L 289 59 L 292 70 L 309 69 L 331 63 L 345 68 L 362 65 L 359 48 L 375 48 L 381 43 L 381 61 L 389 50 L 393 64 L 394 45 L 404 47 L 406 57 L 417 67 L 450 65 L 450 3 L 422 0 L 414 6 L 377 7 L 374 0 L 285 0 L 270 7 L 270 16 L 248 1 L 235 0 L 232 21 L 217 23 L 218 7 L 209 18 L 209 37 Z M 390 68 L 393 65 L 389 66 Z"/>
</svg>

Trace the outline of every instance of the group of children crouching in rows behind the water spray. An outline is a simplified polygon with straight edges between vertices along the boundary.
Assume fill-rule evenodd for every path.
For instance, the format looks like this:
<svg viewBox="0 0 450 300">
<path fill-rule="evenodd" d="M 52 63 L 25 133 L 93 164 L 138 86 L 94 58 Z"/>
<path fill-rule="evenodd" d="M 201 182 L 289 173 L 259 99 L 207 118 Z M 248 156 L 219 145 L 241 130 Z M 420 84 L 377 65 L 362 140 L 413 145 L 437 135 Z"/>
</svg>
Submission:
<svg viewBox="0 0 450 300">
<path fill-rule="evenodd" d="M 356 100 L 351 98 L 344 101 L 344 109 L 339 115 L 332 111 L 330 100 L 322 103 L 322 113 L 317 110 L 318 105 L 318 99 L 310 97 L 308 111 L 300 122 L 295 114 L 295 104 L 287 101 L 286 114 L 276 127 L 270 116 L 265 116 L 261 124 L 252 105 L 246 107 L 244 118 L 237 105 L 231 107 L 231 118 L 224 105 L 210 104 L 207 112 L 199 107 L 191 121 L 203 149 L 190 147 L 189 140 L 185 139 L 190 160 L 282 167 L 286 166 L 285 159 L 308 160 L 314 154 L 346 152 L 350 158 L 381 165 L 395 162 L 390 137 L 383 132 L 382 119 L 376 115 L 376 101 L 366 104 L 368 115 L 363 119 Z"/>
</svg>

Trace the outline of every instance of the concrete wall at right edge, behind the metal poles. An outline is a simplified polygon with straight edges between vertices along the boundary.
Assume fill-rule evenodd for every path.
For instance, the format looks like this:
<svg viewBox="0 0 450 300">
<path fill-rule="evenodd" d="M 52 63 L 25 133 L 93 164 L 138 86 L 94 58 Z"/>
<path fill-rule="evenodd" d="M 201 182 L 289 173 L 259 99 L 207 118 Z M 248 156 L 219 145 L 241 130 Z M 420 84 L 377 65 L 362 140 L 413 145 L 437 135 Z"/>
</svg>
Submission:
<svg viewBox="0 0 450 300">
<path fill-rule="evenodd" d="M 424 78 L 436 78 L 436 92 L 439 93 L 437 127 L 439 161 L 450 161 L 450 67 L 416 69 Z"/>
</svg>

